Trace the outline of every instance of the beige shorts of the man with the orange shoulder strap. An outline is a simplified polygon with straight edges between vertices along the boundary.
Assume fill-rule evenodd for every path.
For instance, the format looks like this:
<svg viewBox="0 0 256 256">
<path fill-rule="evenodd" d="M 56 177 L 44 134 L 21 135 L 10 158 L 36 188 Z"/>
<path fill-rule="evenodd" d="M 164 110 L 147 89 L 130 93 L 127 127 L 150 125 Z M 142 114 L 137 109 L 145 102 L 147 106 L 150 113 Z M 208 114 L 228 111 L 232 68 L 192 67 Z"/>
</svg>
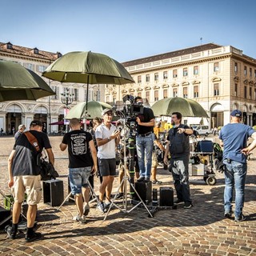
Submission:
<svg viewBox="0 0 256 256">
<path fill-rule="evenodd" d="M 41 175 L 14 176 L 14 202 L 22 203 L 27 195 L 29 206 L 37 205 L 42 198 Z"/>
</svg>

